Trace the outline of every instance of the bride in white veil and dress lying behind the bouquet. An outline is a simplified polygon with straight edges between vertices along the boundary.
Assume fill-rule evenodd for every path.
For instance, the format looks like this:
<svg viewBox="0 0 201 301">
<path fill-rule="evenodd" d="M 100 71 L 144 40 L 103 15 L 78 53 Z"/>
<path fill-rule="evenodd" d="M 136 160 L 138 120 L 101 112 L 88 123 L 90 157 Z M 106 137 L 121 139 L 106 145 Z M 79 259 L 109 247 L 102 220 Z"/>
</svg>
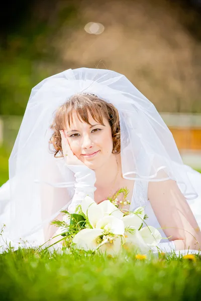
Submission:
<svg viewBox="0 0 201 301">
<path fill-rule="evenodd" d="M 9 172 L 0 252 L 44 243 L 62 209 L 74 212 L 86 195 L 100 203 L 123 187 L 126 209 L 144 206 L 162 251 L 200 249 L 201 175 L 182 163 L 154 105 L 119 73 L 69 69 L 34 87 Z"/>
</svg>

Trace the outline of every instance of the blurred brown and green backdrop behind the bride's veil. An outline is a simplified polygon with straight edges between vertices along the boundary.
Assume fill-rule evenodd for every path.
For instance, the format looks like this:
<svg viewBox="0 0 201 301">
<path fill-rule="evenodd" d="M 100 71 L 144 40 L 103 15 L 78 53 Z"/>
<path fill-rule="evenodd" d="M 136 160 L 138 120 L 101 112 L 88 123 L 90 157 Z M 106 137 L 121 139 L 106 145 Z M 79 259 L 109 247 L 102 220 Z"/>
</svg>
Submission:
<svg viewBox="0 0 201 301">
<path fill-rule="evenodd" d="M 0 186 L 9 177 L 8 158 L 31 89 L 68 68 L 123 73 L 161 114 L 196 114 L 201 132 L 200 10 L 199 0 L 5 3 L 0 13 Z M 199 169 L 201 135 L 196 139 L 193 167 Z"/>
</svg>

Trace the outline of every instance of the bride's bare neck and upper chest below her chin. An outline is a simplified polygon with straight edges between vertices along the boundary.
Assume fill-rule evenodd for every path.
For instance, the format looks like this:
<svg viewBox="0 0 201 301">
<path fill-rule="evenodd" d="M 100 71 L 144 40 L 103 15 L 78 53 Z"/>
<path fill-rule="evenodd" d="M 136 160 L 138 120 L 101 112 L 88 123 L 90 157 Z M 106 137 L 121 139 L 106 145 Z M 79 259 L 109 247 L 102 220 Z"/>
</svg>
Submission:
<svg viewBox="0 0 201 301">
<path fill-rule="evenodd" d="M 120 173 L 120 163 L 118 160 L 118 155 L 112 154 L 110 159 L 104 165 L 95 170 L 96 188 L 105 188 L 112 185 L 117 176 L 118 168 Z"/>
</svg>

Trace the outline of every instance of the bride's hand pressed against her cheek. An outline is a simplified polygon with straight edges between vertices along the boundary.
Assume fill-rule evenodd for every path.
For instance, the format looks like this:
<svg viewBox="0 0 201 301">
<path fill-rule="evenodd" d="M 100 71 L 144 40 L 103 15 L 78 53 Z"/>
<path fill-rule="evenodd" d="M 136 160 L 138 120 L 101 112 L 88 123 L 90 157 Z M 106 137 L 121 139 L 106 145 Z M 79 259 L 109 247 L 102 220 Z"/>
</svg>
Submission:
<svg viewBox="0 0 201 301">
<path fill-rule="evenodd" d="M 60 130 L 63 157 L 67 165 L 84 165 L 72 152 L 65 131 Z"/>
</svg>

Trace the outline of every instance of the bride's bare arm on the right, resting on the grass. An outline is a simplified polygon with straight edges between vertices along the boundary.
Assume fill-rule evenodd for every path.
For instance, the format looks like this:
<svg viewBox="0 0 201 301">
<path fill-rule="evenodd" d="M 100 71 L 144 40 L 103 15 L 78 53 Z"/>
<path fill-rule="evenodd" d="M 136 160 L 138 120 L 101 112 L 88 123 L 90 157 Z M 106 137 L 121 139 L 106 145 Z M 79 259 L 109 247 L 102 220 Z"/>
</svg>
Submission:
<svg viewBox="0 0 201 301">
<path fill-rule="evenodd" d="M 176 250 L 201 248 L 199 227 L 175 181 L 150 182 L 148 199 L 161 227 L 167 227 L 163 229 L 165 235 L 172 236 L 170 240 L 173 241 Z M 160 247 L 162 244 L 165 246 L 168 242 L 160 243 Z"/>
</svg>

